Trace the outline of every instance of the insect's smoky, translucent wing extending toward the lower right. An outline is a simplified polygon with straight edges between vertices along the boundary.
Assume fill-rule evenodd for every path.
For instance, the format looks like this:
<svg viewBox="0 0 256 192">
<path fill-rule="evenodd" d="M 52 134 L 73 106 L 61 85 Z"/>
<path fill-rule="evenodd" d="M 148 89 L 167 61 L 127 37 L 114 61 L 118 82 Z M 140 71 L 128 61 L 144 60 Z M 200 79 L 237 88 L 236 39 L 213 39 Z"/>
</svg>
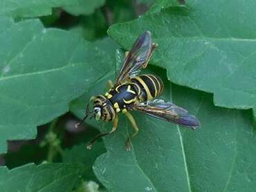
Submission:
<svg viewBox="0 0 256 192">
<path fill-rule="evenodd" d="M 182 126 L 196 128 L 200 122 L 194 115 L 188 114 L 184 108 L 172 104 L 172 102 L 165 102 L 162 99 L 154 99 L 145 103 L 138 104 L 132 108 L 136 111 L 142 111 L 147 115 L 163 119 L 167 122 L 174 122 Z"/>
</svg>

